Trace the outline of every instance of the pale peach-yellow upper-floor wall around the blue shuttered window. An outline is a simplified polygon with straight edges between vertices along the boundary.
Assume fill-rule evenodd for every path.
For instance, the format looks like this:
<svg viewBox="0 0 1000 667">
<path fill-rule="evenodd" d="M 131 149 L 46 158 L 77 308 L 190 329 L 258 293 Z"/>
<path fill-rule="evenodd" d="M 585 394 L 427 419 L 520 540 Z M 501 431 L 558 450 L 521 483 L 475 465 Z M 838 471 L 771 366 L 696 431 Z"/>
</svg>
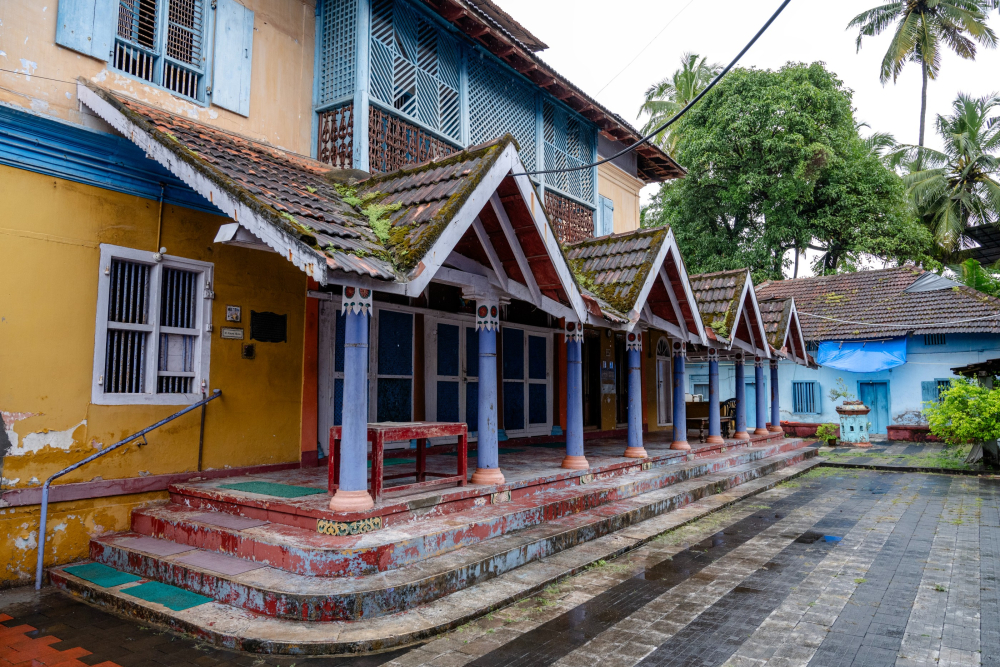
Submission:
<svg viewBox="0 0 1000 667">
<path fill-rule="evenodd" d="M 174 97 L 108 64 L 55 43 L 59 0 L 0 2 L 0 102 L 74 123 L 102 122 L 80 110 L 78 77 L 168 111 L 308 155 L 315 57 L 315 0 L 241 0 L 254 11 L 250 117 Z M 39 77 L 60 79 L 50 81 Z"/>
</svg>

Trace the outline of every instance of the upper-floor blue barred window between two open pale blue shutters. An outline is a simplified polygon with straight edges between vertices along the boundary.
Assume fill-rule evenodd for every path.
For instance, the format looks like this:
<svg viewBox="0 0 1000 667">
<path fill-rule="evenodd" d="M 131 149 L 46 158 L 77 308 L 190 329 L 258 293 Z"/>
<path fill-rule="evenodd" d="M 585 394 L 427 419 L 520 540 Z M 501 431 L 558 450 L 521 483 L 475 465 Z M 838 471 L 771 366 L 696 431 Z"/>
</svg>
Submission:
<svg viewBox="0 0 1000 667">
<path fill-rule="evenodd" d="M 203 100 L 205 20 L 204 0 L 119 0 L 112 66 Z"/>
</svg>

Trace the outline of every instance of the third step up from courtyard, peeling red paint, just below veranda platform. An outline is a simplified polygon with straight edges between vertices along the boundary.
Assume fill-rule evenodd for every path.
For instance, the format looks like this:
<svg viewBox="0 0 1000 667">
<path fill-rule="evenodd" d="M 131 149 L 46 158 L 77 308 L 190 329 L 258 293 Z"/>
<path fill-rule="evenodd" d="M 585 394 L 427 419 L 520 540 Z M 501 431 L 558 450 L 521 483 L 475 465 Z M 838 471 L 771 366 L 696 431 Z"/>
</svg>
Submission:
<svg viewBox="0 0 1000 667">
<path fill-rule="evenodd" d="M 315 527 L 286 523 L 227 528 L 207 521 L 202 507 L 176 503 L 136 510 L 132 515 L 132 530 L 295 574 L 359 577 L 408 567 L 512 531 L 796 451 L 805 444 L 785 439 L 694 461 L 680 459 L 672 465 L 645 471 L 641 466 L 633 466 L 628 474 L 577 476 L 572 485 L 551 487 L 541 493 L 480 496 L 482 502 L 461 513 L 435 516 L 431 513 L 433 506 L 415 508 L 408 513 L 407 521 L 396 521 L 361 535 L 335 537 L 320 533 Z"/>
</svg>

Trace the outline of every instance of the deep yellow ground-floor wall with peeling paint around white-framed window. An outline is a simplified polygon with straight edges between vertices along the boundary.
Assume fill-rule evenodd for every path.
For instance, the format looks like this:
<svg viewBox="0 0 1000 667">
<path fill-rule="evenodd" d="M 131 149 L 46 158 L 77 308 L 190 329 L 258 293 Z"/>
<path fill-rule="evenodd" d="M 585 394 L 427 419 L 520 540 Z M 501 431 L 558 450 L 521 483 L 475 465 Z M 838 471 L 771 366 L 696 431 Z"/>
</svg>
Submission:
<svg viewBox="0 0 1000 667">
<path fill-rule="evenodd" d="M 3 459 L 4 489 L 36 486 L 179 409 L 90 403 L 99 244 L 152 252 L 157 216 L 156 201 L 0 166 L 0 410 L 19 443 Z M 207 408 L 204 468 L 297 461 L 306 276 L 278 254 L 213 243 L 227 222 L 167 205 L 159 243 L 215 267 L 209 386 L 223 397 Z M 242 307 L 247 338 L 251 310 L 287 314 L 289 342 L 257 342 L 257 358 L 242 359 L 241 341 L 220 338 L 227 305 Z M 148 446 L 124 447 L 60 482 L 194 471 L 198 432 L 196 411 L 151 433 Z M 128 512 L 107 508 L 147 500 L 106 498 L 67 511 L 88 531 L 117 531 L 128 527 Z M 3 541 L 16 542 L 23 530 L 13 528 L 30 509 L 6 511 L 0 521 L 19 518 L 9 519 L 16 525 Z M 59 562 L 86 554 L 85 540 L 68 535 L 55 542 Z M 0 558 L 34 562 L 31 540 L 19 544 L 0 546 Z M 7 557 L 12 550 L 18 557 Z M 20 571 L 12 567 L 0 578 Z"/>
</svg>

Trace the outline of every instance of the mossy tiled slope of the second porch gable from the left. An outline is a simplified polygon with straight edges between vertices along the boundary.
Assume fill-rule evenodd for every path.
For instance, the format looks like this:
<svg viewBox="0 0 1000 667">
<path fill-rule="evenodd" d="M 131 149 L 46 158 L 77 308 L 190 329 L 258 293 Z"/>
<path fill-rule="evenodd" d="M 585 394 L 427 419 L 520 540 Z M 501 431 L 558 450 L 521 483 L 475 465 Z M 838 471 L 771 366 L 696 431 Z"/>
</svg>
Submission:
<svg viewBox="0 0 1000 667">
<path fill-rule="evenodd" d="M 567 247 L 577 283 L 619 315 L 635 306 L 669 229 L 639 230 L 587 239 Z"/>
</svg>

